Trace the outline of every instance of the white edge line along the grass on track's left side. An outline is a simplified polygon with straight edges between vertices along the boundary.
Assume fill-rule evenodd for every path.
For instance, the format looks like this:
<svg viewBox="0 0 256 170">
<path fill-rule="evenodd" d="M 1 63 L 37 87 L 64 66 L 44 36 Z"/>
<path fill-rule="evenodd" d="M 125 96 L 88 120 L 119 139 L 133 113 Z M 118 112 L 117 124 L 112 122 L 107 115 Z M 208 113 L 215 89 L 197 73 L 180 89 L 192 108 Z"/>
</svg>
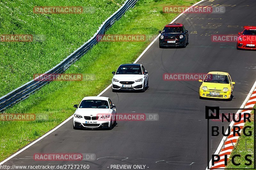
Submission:
<svg viewBox="0 0 256 170">
<path fill-rule="evenodd" d="M 199 2 L 197 2 L 196 4 L 190 6 L 189 8 L 203 2 L 205 0 L 201 0 Z M 184 13 L 184 12 L 183 12 Z M 183 13 L 181 13 L 178 17 L 176 17 L 175 19 L 172 20 L 172 22 L 174 22 L 176 19 L 178 19 Z M 170 24 L 172 23 L 170 22 Z M 144 55 L 146 53 L 146 51 L 148 50 L 148 48 L 150 48 L 152 46 L 152 44 L 157 40 L 157 38 L 160 36 L 160 34 L 148 45 L 148 47 L 140 54 L 140 56 L 135 60 L 134 63 L 136 63 L 141 57 L 142 55 Z M 256 82 L 255 82 L 256 83 Z M 108 87 L 106 87 L 102 92 L 100 92 L 100 94 L 98 94 L 97 96 L 102 95 L 104 92 L 106 92 L 112 85 L 110 84 Z M 7 162 L 8 160 L 12 159 L 13 157 L 15 157 L 16 155 L 18 155 L 19 153 L 23 152 L 24 150 L 28 149 L 30 146 L 32 146 L 33 144 L 35 144 L 36 142 L 40 141 L 41 139 L 43 139 L 44 137 L 48 136 L 49 134 L 51 134 L 52 132 L 54 132 L 55 130 L 57 130 L 60 126 L 62 126 L 63 124 L 65 124 L 66 122 L 68 122 L 71 118 L 73 117 L 70 116 L 68 119 L 66 119 L 64 122 L 60 123 L 60 125 L 58 125 L 57 127 L 55 127 L 54 129 L 52 129 L 51 131 L 49 131 L 48 133 L 44 134 L 42 137 L 36 139 L 34 142 L 32 142 L 31 144 L 28 144 L 26 147 L 22 148 L 20 151 L 14 153 L 13 155 L 11 155 L 10 157 L 4 159 L 2 162 L 0 162 L 0 165 L 4 164 L 5 162 Z"/>
</svg>

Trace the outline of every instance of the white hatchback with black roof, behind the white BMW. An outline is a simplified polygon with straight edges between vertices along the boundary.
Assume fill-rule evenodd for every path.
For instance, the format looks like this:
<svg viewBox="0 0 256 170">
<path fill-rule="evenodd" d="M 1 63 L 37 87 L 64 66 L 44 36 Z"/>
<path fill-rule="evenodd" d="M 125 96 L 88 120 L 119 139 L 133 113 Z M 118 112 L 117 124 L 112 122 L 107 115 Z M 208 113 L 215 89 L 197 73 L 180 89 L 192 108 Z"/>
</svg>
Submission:
<svg viewBox="0 0 256 170">
<path fill-rule="evenodd" d="M 141 90 L 148 88 L 148 72 L 141 64 L 121 64 L 112 72 L 112 91 Z"/>
</svg>

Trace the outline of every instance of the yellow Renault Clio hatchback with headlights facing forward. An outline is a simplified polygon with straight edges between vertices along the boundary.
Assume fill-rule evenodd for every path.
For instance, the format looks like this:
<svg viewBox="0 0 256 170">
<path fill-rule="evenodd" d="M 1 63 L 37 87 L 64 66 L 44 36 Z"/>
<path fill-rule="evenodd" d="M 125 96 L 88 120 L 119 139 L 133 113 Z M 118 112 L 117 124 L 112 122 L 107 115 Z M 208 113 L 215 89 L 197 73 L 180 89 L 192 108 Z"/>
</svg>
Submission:
<svg viewBox="0 0 256 170">
<path fill-rule="evenodd" d="M 226 72 L 211 71 L 207 73 L 199 89 L 200 99 L 231 99 L 235 82 L 232 82 L 230 75 Z"/>
</svg>

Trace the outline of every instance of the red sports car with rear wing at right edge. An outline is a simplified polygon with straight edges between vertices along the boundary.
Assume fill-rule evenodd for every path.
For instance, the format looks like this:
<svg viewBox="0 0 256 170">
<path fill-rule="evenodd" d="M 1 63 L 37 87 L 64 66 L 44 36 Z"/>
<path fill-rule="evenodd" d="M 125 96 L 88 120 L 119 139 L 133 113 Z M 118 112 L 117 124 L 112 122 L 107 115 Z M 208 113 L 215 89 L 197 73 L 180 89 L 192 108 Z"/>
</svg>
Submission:
<svg viewBox="0 0 256 170">
<path fill-rule="evenodd" d="M 236 49 L 256 49 L 256 26 L 244 26 L 244 31 L 238 34 Z"/>
</svg>

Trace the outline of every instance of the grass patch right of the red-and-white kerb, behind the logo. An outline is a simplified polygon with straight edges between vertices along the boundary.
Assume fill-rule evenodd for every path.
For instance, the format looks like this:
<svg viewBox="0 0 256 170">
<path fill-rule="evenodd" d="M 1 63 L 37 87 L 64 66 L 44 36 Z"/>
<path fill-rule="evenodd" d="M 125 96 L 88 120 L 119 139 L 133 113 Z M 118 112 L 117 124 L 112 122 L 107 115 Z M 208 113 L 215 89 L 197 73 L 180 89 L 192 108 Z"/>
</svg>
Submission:
<svg viewBox="0 0 256 170">
<path fill-rule="evenodd" d="M 253 107 L 256 108 L 256 105 Z M 237 168 L 244 168 L 244 169 L 248 169 L 248 168 L 253 168 L 254 167 L 254 116 L 255 113 L 253 113 L 253 111 L 251 112 L 251 122 L 246 122 L 244 124 L 245 126 L 251 126 L 252 128 L 250 129 L 246 129 L 245 134 L 249 134 L 249 131 L 252 131 L 252 135 L 251 136 L 245 136 L 243 134 L 243 132 L 241 133 L 241 136 L 238 138 L 238 141 L 233 149 L 233 151 L 230 154 L 229 158 L 232 158 L 234 155 L 241 155 L 241 157 L 235 157 L 234 161 L 235 163 L 240 163 L 240 165 L 236 166 L 232 163 L 231 159 L 228 160 L 228 165 L 226 166 L 226 168 L 231 168 L 231 169 L 237 169 Z M 252 160 L 252 164 L 251 165 L 245 165 L 248 164 L 249 162 L 247 160 L 245 160 L 245 155 L 252 155 L 252 157 L 248 157 L 249 159 Z"/>
</svg>

